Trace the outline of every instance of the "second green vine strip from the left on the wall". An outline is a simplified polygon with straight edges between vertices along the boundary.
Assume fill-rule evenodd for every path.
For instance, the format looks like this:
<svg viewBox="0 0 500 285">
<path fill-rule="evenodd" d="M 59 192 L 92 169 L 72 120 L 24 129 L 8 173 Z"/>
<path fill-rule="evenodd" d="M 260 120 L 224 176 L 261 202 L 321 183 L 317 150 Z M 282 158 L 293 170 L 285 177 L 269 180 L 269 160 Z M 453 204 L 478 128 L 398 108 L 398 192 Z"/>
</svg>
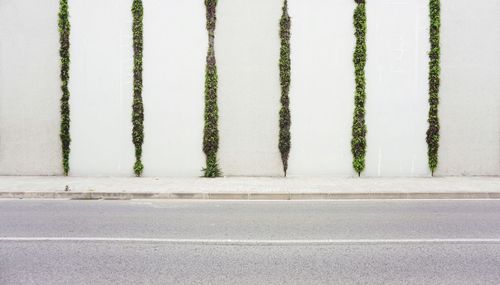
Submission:
<svg viewBox="0 0 500 285">
<path fill-rule="evenodd" d="M 133 15 L 133 46 L 134 46 L 134 102 L 132 106 L 132 141 L 135 146 L 134 172 L 141 176 L 144 170 L 142 164 L 142 144 L 144 142 L 144 105 L 142 103 L 142 53 L 143 53 L 143 27 L 142 19 L 144 9 L 142 0 L 134 0 L 132 3 Z"/>
</svg>

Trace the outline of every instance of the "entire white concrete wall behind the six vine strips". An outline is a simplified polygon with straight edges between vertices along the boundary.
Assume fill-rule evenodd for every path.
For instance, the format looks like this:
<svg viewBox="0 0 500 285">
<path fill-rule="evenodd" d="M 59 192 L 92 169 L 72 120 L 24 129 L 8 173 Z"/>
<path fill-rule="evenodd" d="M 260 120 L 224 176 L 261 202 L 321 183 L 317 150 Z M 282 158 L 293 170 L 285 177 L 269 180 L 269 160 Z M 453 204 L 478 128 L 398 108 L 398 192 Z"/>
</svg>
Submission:
<svg viewBox="0 0 500 285">
<path fill-rule="evenodd" d="M 70 0 L 71 174 L 132 176 L 132 0 Z M 0 0 L 0 175 L 61 174 L 58 1 Z M 282 0 L 220 0 L 221 168 L 281 175 Z M 354 1 L 290 0 L 291 175 L 350 176 Z M 367 4 L 366 176 L 428 176 L 428 1 Z M 146 176 L 198 176 L 203 1 L 144 0 Z M 439 175 L 500 175 L 500 4 L 442 0 Z"/>
</svg>

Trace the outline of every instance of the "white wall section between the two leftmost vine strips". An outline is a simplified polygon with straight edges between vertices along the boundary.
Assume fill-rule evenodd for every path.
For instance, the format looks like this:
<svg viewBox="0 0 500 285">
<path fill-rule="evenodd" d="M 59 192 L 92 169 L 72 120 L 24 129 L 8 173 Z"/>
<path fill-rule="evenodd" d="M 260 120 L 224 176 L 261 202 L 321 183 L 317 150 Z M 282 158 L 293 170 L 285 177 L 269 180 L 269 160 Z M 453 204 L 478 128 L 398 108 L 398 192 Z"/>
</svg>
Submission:
<svg viewBox="0 0 500 285">
<path fill-rule="evenodd" d="M 131 176 L 130 0 L 71 0 L 72 175 Z"/>
</svg>

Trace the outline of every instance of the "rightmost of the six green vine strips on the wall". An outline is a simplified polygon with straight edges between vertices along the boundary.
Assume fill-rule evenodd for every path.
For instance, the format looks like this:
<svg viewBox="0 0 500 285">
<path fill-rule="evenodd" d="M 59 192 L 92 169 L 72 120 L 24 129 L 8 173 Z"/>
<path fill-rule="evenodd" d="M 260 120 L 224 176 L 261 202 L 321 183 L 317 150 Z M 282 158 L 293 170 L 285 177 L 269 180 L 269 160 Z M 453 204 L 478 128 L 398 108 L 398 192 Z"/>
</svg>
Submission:
<svg viewBox="0 0 500 285">
<path fill-rule="evenodd" d="M 427 155 L 432 175 L 438 166 L 439 151 L 439 86 L 440 86 L 440 36 L 441 4 L 440 0 L 430 0 L 430 43 L 429 53 L 429 129 L 427 130 Z"/>
</svg>

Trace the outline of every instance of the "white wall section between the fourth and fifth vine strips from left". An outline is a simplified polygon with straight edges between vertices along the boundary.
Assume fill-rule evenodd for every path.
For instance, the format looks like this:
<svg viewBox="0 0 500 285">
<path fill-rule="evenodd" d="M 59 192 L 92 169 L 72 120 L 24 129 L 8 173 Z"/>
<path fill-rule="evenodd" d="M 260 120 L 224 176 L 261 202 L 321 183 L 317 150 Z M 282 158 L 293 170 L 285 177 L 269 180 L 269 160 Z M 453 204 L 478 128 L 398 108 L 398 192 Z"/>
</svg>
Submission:
<svg viewBox="0 0 500 285">
<path fill-rule="evenodd" d="M 354 7 L 354 1 L 344 0 L 289 2 L 290 175 L 353 174 Z"/>
</svg>

